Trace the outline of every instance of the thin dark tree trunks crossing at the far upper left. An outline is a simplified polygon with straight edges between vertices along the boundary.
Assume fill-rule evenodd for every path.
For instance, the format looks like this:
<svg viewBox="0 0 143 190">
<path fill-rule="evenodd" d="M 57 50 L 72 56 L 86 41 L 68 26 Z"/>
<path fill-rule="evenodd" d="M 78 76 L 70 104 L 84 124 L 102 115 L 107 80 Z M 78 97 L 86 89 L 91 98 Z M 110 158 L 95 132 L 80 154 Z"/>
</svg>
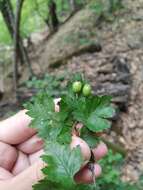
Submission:
<svg viewBox="0 0 143 190">
<path fill-rule="evenodd" d="M 5 24 L 8 28 L 10 36 L 14 41 L 14 88 L 17 89 L 18 82 L 18 62 L 27 64 L 30 74 L 33 75 L 31 68 L 30 60 L 26 48 L 23 45 L 23 41 L 20 36 L 20 20 L 21 20 L 21 11 L 24 0 L 17 1 L 16 14 L 14 15 L 13 7 L 10 0 L 2 1 L 0 3 L 0 10 L 4 18 Z"/>
</svg>

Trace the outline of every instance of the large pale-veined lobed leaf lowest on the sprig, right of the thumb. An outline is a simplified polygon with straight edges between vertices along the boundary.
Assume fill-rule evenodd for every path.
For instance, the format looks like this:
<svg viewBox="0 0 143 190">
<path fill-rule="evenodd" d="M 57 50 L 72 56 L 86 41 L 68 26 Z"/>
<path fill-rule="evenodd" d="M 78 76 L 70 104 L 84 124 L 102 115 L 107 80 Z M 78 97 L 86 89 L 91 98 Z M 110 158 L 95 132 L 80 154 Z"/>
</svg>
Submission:
<svg viewBox="0 0 143 190">
<path fill-rule="evenodd" d="M 68 145 L 47 142 L 45 153 L 43 160 L 48 167 L 43 169 L 44 174 L 50 181 L 71 188 L 75 184 L 74 175 L 83 163 L 80 147 L 70 150 Z"/>
</svg>

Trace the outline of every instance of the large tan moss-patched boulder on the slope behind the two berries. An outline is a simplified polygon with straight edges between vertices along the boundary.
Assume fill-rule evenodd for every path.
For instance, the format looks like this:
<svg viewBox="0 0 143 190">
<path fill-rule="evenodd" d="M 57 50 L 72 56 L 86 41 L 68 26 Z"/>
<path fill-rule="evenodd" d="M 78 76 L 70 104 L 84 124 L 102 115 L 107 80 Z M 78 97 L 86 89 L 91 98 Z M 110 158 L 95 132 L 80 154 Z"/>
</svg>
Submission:
<svg viewBox="0 0 143 190">
<path fill-rule="evenodd" d="M 77 12 L 48 40 L 42 65 L 58 66 L 74 55 L 100 51 L 98 39 L 92 38 L 98 19 L 89 8 Z"/>
</svg>

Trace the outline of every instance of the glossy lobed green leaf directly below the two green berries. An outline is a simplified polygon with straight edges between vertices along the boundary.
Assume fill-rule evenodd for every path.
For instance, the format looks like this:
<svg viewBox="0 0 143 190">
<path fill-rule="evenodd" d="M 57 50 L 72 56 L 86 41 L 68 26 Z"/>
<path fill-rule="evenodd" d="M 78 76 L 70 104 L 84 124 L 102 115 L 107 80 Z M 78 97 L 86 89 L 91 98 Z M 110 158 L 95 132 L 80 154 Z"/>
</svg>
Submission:
<svg viewBox="0 0 143 190">
<path fill-rule="evenodd" d="M 111 123 L 106 119 L 113 117 L 115 114 L 110 102 L 111 96 L 81 97 L 75 104 L 73 117 L 93 132 L 103 131 L 111 126 Z"/>
</svg>

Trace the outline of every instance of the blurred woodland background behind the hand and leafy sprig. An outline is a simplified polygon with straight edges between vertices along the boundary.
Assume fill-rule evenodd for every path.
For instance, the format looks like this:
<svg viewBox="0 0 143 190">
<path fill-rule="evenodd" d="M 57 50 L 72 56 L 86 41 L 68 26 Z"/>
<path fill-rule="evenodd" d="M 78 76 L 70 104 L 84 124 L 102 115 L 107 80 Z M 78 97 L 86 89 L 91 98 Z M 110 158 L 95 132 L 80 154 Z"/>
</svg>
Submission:
<svg viewBox="0 0 143 190">
<path fill-rule="evenodd" d="M 0 119 L 81 72 L 118 108 L 97 189 L 142 190 L 142 31 L 143 0 L 0 0 Z"/>
</svg>

